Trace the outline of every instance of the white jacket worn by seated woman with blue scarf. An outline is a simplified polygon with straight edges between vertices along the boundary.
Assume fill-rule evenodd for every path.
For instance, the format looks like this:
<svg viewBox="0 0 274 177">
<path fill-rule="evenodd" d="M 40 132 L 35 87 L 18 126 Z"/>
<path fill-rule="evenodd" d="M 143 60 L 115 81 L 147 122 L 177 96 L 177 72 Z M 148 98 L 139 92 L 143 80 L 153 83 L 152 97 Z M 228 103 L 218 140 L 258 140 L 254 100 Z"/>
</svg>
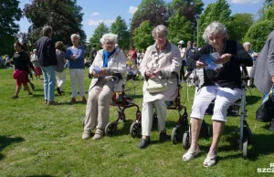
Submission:
<svg viewBox="0 0 274 177">
<path fill-rule="evenodd" d="M 96 57 L 92 65 L 90 66 L 90 74 L 93 71 L 93 68 L 102 68 L 104 61 L 103 49 L 97 52 Z M 108 68 L 107 68 L 107 77 L 112 78 L 113 74 L 120 73 L 121 76 L 124 76 L 126 72 L 126 57 L 121 52 L 121 50 L 116 50 L 114 54 L 109 58 Z M 93 78 L 90 83 L 90 89 L 94 87 L 99 78 Z M 114 91 L 121 91 L 122 80 L 115 80 Z M 89 90 L 90 90 L 89 89 Z"/>
</svg>

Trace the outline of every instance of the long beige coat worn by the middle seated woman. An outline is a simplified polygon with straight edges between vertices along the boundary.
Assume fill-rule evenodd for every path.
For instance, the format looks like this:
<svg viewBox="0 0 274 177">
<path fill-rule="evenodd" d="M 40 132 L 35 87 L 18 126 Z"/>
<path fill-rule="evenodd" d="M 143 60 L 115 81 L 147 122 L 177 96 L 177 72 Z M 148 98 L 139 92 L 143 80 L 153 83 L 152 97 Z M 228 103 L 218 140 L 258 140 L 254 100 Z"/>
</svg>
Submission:
<svg viewBox="0 0 274 177">
<path fill-rule="evenodd" d="M 162 93 L 149 93 L 146 90 L 147 82 L 143 82 L 142 93 L 143 102 L 150 102 L 156 99 L 174 100 L 177 96 L 177 78 L 172 73 L 180 72 L 182 66 L 182 59 L 179 48 L 167 42 L 163 51 L 158 53 L 156 45 L 146 49 L 142 63 L 140 65 L 140 72 L 145 78 L 145 71 L 160 68 L 162 71 L 162 79 L 167 80 L 168 90 Z"/>
</svg>

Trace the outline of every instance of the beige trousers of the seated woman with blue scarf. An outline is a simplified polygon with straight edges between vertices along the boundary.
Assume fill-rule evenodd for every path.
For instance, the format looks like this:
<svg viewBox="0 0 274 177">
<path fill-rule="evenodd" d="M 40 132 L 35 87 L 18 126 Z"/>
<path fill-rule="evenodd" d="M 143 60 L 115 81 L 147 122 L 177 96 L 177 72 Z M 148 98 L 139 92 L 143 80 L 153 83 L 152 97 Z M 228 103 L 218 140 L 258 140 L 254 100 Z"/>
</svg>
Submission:
<svg viewBox="0 0 274 177">
<path fill-rule="evenodd" d="M 113 96 L 114 81 L 98 80 L 90 89 L 87 102 L 84 130 L 105 129 L 110 120 L 110 102 Z"/>
</svg>

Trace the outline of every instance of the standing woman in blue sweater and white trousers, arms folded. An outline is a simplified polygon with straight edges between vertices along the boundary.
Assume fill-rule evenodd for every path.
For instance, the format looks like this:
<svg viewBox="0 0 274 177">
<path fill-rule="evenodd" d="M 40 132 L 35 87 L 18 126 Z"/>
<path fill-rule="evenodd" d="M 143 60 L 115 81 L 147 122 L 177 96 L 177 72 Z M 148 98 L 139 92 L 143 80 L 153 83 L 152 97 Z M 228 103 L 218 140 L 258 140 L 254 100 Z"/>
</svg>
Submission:
<svg viewBox="0 0 274 177">
<path fill-rule="evenodd" d="M 84 87 L 84 48 L 79 46 L 79 35 L 73 34 L 70 36 L 72 47 L 68 47 L 66 59 L 68 59 L 69 76 L 71 82 L 71 100 L 70 103 L 75 103 L 77 93 L 77 82 L 79 84 L 79 95 L 82 97 L 82 102 L 86 103 L 85 87 Z"/>
</svg>

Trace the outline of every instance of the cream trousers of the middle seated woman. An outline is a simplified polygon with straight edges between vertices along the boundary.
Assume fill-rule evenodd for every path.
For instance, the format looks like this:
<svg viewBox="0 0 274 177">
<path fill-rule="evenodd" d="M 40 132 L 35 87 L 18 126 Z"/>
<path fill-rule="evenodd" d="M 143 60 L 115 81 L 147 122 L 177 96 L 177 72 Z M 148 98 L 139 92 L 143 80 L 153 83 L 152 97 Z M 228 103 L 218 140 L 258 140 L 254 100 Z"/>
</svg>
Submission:
<svg viewBox="0 0 274 177">
<path fill-rule="evenodd" d="M 153 108 L 156 110 L 158 118 L 158 130 L 165 128 L 166 104 L 162 99 L 142 103 L 142 135 L 151 136 L 153 127 Z"/>
</svg>

